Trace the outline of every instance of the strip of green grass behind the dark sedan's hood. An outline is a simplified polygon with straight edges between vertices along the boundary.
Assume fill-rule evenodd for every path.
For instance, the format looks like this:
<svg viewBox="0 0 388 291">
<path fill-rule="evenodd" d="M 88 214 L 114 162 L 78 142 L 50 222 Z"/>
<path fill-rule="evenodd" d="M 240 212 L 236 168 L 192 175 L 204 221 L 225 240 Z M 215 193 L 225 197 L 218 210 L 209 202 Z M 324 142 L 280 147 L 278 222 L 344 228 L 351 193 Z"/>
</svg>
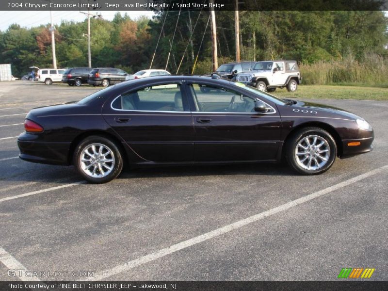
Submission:
<svg viewBox="0 0 388 291">
<path fill-rule="evenodd" d="M 377 87 L 300 85 L 295 93 L 276 89 L 271 94 L 280 98 L 388 100 L 388 88 Z"/>
</svg>

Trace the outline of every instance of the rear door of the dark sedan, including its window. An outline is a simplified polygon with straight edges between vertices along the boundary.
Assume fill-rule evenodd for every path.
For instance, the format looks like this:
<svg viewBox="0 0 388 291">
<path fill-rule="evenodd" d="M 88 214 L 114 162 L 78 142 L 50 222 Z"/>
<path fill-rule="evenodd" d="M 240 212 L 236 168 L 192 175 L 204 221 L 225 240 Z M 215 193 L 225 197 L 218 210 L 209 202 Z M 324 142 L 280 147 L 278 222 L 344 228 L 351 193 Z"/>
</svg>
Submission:
<svg viewBox="0 0 388 291">
<path fill-rule="evenodd" d="M 103 117 L 145 162 L 193 162 L 193 118 L 178 82 L 124 93 Z"/>
</svg>

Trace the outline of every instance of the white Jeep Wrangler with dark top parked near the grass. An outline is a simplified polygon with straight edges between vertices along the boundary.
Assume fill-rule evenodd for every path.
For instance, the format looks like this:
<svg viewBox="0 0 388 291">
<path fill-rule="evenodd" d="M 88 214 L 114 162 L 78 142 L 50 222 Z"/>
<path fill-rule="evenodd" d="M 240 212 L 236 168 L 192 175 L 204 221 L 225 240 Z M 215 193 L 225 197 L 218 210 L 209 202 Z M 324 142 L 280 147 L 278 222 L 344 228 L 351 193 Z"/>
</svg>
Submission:
<svg viewBox="0 0 388 291">
<path fill-rule="evenodd" d="M 296 61 L 263 61 L 257 62 L 253 71 L 238 74 L 236 81 L 261 91 L 274 92 L 276 88 L 287 88 L 289 92 L 295 92 L 302 77 Z"/>
</svg>

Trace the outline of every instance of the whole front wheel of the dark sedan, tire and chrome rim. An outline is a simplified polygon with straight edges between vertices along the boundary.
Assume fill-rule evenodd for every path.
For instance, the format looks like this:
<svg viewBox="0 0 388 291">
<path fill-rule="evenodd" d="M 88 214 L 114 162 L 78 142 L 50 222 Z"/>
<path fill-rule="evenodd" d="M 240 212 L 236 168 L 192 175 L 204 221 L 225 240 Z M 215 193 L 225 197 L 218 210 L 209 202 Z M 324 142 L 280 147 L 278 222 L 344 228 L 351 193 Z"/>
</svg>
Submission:
<svg viewBox="0 0 388 291">
<path fill-rule="evenodd" d="M 305 128 L 295 132 L 286 144 L 286 159 L 303 175 L 317 175 L 327 171 L 337 156 L 332 135 L 324 129 Z"/>
</svg>

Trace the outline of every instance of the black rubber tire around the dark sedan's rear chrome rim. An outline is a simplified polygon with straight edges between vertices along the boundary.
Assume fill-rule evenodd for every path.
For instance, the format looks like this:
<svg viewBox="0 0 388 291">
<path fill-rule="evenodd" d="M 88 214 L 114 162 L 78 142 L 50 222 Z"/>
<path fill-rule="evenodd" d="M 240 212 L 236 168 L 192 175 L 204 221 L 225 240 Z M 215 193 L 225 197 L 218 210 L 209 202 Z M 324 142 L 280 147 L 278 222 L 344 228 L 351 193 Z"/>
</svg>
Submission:
<svg viewBox="0 0 388 291">
<path fill-rule="evenodd" d="M 103 174 L 101 174 L 101 172 L 97 168 L 97 165 L 93 166 L 93 168 L 96 168 L 96 175 L 98 175 L 98 173 L 99 173 L 99 175 L 101 177 L 92 177 L 92 173 L 89 172 L 89 175 L 88 175 L 85 173 L 85 171 L 82 168 L 81 156 L 89 158 L 90 155 L 88 156 L 87 154 L 85 154 L 84 150 L 92 145 L 95 145 L 96 149 L 97 149 L 98 145 L 103 146 L 103 148 L 108 149 L 112 153 L 112 154 L 109 154 L 106 156 L 106 157 L 108 157 L 108 159 L 114 161 L 114 162 L 108 162 L 108 165 L 112 167 L 112 170 L 106 176 L 103 176 Z M 101 157 L 97 157 L 97 159 L 99 159 L 99 158 L 101 158 Z M 95 159 L 95 158 L 94 157 L 92 158 L 90 156 L 90 159 Z M 97 160 L 97 162 L 98 162 L 98 160 Z M 87 163 L 88 164 L 86 164 L 86 166 L 89 164 L 92 164 L 92 162 L 87 162 Z M 77 171 L 81 174 L 81 176 L 85 180 L 87 180 L 91 183 L 94 183 L 94 184 L 101 184 L 101 183 L 109 182 L 109 181 L 113 180 L 114 178 L 116 178 L 118 175 L 120 175 L 120 173 L 123 169 L 123 158 L 122 158 L 122 153 L 121 153 L 120 149 L 116 146 L 116 144 L 112 140 L 110 140 L 106 137 L 92 135 L 92 136 L 86 137 L 76 147 L 76 149 L 74 151 L 74 155 L 73 155 L 73 164 L 76 167 Z M 103 168 L 103 169 L 105 169 L 106 172 L 109 171 L 109 170 L 107 170 L 108 168 Z"/>
</svg>

